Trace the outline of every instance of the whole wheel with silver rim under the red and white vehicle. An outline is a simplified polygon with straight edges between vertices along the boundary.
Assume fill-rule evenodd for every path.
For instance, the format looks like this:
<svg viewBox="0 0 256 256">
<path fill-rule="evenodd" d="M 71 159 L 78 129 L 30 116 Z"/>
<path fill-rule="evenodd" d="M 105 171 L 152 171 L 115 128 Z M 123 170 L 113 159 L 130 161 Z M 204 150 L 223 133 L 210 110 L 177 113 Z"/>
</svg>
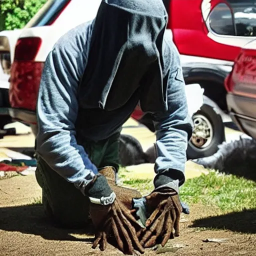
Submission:
<svg viewBox="0 0 256 256">
<path fill-rule="evenodd" d="M 194 129 L 188 142 L 187 159 L 210 156 L 225 140 L 222 118 L 209 105 L 202 105 L 192 116 Z"/>
</svg>

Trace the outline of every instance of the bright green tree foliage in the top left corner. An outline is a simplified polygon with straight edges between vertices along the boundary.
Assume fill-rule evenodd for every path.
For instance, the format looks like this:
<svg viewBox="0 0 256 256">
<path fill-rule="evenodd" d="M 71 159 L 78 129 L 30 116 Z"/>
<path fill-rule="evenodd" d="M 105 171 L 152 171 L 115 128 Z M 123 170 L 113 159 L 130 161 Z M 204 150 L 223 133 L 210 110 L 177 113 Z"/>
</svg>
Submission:
<svg viewBox="0 0 256 256">
<path fill-rule="evenodd" d="M 0 30 L 22 28 L 46 0 L 0 0 Z"/>
</svg>

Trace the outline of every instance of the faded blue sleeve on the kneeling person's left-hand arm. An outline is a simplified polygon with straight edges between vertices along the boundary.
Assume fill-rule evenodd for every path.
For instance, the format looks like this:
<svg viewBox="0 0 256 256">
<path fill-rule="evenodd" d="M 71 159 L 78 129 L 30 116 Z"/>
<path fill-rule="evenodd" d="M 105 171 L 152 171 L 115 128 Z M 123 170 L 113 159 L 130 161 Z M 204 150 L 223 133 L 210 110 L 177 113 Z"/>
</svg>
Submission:
<svg viewBox="0 0 256 256">
<path fill-rule="evenodd" d="M 36 137 L 38 155 L 81 191 L 97 174 L 76 142 L 77 87 L 86 62 L 84 54 L 79 43 L 64 40 L 48 54 L 37 100 Z"/>
</svg>

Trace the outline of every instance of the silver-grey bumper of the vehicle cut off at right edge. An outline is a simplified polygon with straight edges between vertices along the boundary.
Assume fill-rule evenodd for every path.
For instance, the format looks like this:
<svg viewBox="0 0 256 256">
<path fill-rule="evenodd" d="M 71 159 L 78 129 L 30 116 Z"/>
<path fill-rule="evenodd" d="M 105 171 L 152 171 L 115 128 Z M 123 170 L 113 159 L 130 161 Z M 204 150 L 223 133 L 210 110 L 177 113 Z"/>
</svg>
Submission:
<svg viewBox="0 0 256 256">
<path fill-rule="evenodd" d="M 226 101 L 233 122 L 241 131 L 256 138 L 256 98 L 228 93 Z"/>
</svg>

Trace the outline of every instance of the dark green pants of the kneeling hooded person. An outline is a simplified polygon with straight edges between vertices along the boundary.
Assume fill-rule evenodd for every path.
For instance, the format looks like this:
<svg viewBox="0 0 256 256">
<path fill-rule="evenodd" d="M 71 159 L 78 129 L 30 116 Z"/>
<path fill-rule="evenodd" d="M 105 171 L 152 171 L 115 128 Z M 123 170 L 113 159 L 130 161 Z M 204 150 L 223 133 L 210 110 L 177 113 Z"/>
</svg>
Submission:
<svg viewBox="0 0 256 256">
<path fill-rule="evenodd" d="M 90 160 L 101 168 L 119 165 L 119 133 L 99 142 L 83 143 Z M 35 176 L 42 188 L 45 214 L 59 227 L 82 228 L 88 218 L 89 201 L 72 183 L 67 182 L 38 157 Z"/>
</svg>

